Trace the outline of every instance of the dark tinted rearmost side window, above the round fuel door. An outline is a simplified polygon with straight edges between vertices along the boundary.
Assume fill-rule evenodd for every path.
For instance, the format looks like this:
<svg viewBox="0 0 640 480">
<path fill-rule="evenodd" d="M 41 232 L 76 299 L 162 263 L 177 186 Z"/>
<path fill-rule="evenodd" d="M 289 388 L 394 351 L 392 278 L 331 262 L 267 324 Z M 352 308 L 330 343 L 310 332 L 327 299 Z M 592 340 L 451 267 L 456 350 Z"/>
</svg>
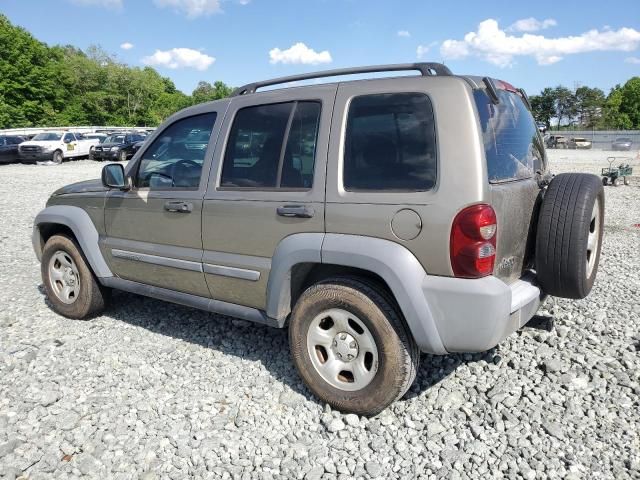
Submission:
<svg viewBox="0 0 640 480">
<path fill-rule="evenodd" d="M 344 188 L 425 191 L 436 181 L 436 135 L 429 97 L 420 93 L 363 95 L 347 117 Z"/>
</svg>

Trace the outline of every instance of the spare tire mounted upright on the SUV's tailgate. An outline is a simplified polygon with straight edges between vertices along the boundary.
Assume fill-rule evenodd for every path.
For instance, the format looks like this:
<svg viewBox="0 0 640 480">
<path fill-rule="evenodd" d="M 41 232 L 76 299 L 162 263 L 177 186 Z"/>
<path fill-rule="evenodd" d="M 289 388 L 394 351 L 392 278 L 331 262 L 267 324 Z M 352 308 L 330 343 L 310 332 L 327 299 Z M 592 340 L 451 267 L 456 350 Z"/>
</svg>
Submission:
<svg viewBox="0 0 640 480">
<path fill-rule="evenodd" d="M 596 201 L 598 208 L 594 208 Z M 599 221 L 592 222 L 596 211 Z M 574 299 L 589 294 L 598 271 L 603 231 L 604 188 L 600 179 L 583 173 L 554 177 L 542 201 L 536 237 L 536 272 L 545 293 Z M 594 232 L 596 243 L 588 253 L 590 232 Z M 591 272 L 588 264 L 593 265 Z"/>
</svg>

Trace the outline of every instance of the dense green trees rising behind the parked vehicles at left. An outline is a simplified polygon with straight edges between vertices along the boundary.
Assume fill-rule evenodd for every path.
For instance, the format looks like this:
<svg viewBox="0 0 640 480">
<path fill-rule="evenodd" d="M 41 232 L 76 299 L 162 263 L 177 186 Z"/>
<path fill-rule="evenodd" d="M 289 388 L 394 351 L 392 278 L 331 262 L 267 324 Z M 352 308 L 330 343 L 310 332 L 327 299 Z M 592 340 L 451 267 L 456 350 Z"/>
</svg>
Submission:
<svg viewBox="0 0 640 480">
<path fill-rule="evenodd" d="M 50 47 L 0 15 L 0 128 L 156 126 L 231 90 L 203 81 L 186 95 L 151 67 L 130 67 L 100 47 Z"/>
</svg>

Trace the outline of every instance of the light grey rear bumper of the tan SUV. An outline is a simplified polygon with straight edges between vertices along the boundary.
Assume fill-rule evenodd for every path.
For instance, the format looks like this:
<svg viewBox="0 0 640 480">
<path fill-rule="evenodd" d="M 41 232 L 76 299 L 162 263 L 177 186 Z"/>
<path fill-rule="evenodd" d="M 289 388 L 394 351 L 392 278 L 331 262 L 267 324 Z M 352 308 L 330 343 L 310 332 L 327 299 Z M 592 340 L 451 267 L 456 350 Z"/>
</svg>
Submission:
<svg viewBox="0 0 640 480">
<path fill-rule="evenodd" d="M 448 352 L 489 350 L 526 324 L 541 303 L 533 275 L 507 285 L 496 277 L 427 275 L 422 291 Z"/>
</svg>

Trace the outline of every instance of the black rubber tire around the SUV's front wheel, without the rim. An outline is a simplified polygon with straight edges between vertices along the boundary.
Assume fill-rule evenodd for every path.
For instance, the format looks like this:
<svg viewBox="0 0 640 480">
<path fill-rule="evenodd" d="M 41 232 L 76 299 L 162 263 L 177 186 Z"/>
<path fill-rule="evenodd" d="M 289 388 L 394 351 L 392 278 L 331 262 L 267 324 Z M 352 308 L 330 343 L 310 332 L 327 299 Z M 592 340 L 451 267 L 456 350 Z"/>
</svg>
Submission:
<svg viewBox="0 0 640 480">
<path fill-rule="evenodd" d="M 80 291 L 73 303 L 65 303 L 58 298 L 49 275 L 49 263 L 52 256 L 59 251 L 69 255 L 78 270 Z M 49 302 L 51 302 L 53 310 L 60 315 L 74 319 L 87 319 L 100 313 L 107 305 L 110 290 L 98 283 L 82 254 L 80 246 L 73 238 L 66 235 L 53 235 L 49 238 L 42 251 L 40 267 L 42 282 Z"/>
</svg>

